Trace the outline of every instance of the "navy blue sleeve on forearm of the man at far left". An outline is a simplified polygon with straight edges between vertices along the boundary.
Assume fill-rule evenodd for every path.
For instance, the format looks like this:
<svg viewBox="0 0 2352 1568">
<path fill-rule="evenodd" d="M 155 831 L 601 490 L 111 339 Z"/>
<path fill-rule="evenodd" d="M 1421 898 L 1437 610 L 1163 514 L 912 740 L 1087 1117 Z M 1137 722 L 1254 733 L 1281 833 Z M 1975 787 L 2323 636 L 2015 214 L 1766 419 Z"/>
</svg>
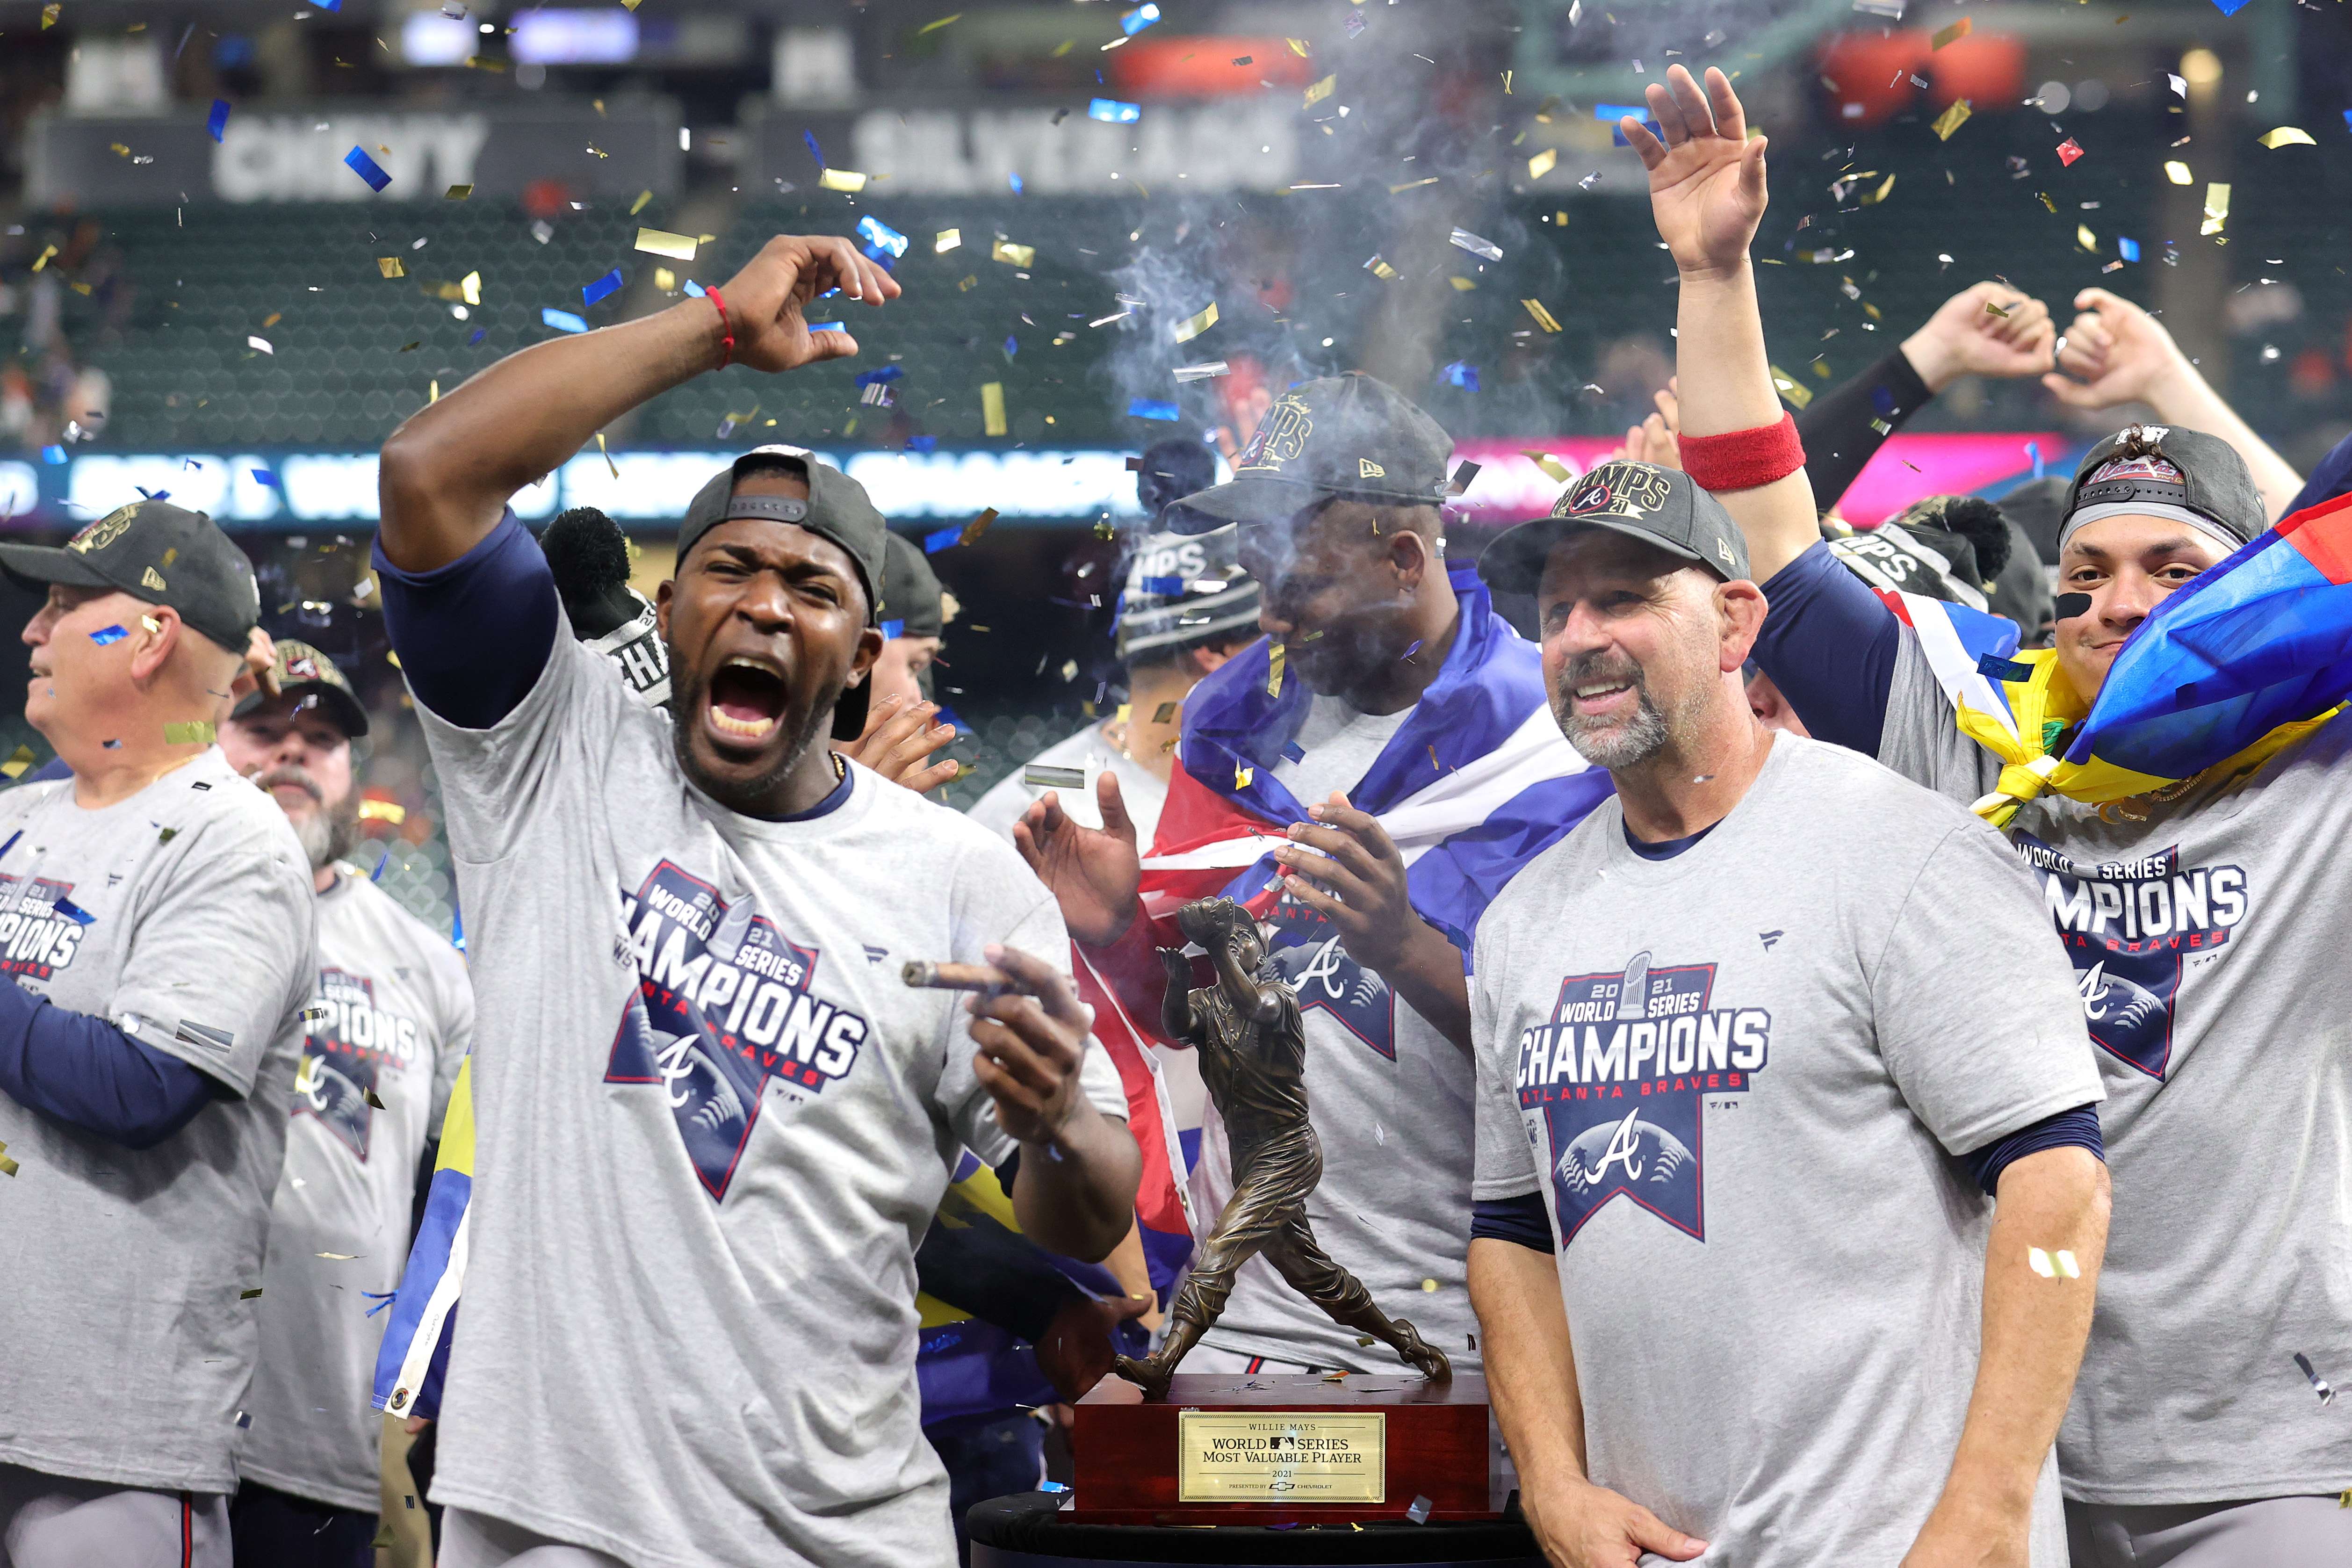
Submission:
<svg viewBox="0 0 2352 1568">
<path fill-rule="evenodd" d="M 228 1093 L 103 1018 L 0 980 L 0 1088 L 127 1150 L 153 1150 Z"/>
</svg>

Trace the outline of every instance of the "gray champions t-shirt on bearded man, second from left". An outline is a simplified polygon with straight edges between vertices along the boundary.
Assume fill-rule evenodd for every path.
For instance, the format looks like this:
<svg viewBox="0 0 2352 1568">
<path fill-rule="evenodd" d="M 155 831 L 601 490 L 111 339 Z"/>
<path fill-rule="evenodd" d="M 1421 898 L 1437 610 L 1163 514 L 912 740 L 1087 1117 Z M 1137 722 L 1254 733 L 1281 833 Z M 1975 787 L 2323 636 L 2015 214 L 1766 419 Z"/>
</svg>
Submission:
<svg viewBox="0 0 2352 1568">
<path fill-rule="evenodd" d="M 466 959 L 343 870 L 318 898 L 303 1025 L 238 1474 L 374 1514 L 383 1418 L 369 1387 L 386 1321 L 374 1309 L 400 1284 L 416 1164 L 473 1044 Z"/>
</svg>

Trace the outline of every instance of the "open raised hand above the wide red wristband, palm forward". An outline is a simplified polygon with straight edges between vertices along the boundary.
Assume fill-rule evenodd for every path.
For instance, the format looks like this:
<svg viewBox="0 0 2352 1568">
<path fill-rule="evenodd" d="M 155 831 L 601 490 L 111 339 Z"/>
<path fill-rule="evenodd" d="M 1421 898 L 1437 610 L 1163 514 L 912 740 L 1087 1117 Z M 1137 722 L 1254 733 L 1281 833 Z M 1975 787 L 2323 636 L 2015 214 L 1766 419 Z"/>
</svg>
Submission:
<svg viewBox="0 0 2352 1568">
<path fill-rule="evenodd" d="M 1748 134 L 1731 78 L 1708 66 L 1708 87 L 1670 66 L 1665 85 L 1646 89 L 1649 115 L 1618 120 L 1649 169 L 1649 209 L 1658 237 L 1684 275 L 1729 275 L 1748 266 L 1748 244 L 1764 221 L 1764 136 Z"/>
</svg>

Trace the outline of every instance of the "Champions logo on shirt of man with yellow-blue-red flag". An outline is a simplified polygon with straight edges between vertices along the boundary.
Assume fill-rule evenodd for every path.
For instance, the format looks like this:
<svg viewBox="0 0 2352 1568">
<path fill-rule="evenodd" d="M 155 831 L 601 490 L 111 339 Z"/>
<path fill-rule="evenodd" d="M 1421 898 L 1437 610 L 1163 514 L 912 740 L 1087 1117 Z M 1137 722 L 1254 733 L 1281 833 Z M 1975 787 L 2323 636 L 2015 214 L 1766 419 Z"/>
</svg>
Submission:
<svg viewBox="0 0 2352 1568">
<path fill-rule="evenodd" d="M 2042 879 L 2091 1044 L 2161 1081 L 2173 1063 L 2183 966 L 2227 947 L 2246 917 L 2246 872 L 2183 867 L 2178 846 L 2103 865 L 2082 865 L 2027 832 L 2011 835 L 2011 846 Z"/>
</svg>

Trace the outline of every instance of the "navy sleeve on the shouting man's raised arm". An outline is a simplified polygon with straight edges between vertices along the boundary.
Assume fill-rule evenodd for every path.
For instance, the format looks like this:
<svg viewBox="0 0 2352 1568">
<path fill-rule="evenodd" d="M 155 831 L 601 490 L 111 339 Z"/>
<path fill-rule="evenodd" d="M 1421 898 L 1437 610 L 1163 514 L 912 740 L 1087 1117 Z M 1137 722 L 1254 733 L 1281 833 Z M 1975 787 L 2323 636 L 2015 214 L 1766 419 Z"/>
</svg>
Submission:
<svg viewBox="0 0 2352 1568">
<path fill-rule="evenodd" d="M 466 729 L 515 712 L 555 651 L 555 574 L 515 512 L 473 550 L 433 571 L 383 559 L 383 630 L 416 701 Z"/>
</svg>

